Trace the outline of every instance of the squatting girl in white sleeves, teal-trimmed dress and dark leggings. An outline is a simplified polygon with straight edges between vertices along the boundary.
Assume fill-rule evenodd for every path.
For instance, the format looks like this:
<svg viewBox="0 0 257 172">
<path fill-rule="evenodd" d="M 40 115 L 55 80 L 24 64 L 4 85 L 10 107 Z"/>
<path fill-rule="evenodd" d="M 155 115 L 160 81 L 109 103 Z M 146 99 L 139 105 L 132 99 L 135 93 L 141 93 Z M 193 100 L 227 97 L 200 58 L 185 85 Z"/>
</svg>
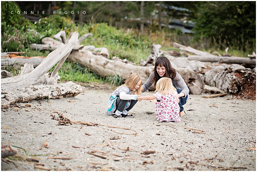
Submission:
<svg viewBox="0 0 257 172">
<path fill-rule="evenodd" d="M 111 94 L 108 101 L 108 110 L 106 115 L 113 115 L 114 118 L 132 116 L 127 115 L 128 111 L 140 99 L 141 94 L 141 78 L 138 74 L 132 73 L 125 84 L 117 87 Z"/>
</svg>

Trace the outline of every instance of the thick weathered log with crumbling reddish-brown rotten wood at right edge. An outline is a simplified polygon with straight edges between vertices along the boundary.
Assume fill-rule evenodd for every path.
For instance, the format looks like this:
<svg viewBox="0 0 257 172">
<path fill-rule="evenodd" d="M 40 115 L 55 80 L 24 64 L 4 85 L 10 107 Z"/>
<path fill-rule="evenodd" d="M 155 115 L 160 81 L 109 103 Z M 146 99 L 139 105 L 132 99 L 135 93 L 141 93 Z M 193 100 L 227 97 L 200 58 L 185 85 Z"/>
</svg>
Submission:
<svg viewBox="0 0 257 172">
<path fill-rule="evenodd" d="M 256 73 L 238 64 L 222 64 L 205 73 L 205 83 L 225 93 L 256 93 Z"/>
</svg>

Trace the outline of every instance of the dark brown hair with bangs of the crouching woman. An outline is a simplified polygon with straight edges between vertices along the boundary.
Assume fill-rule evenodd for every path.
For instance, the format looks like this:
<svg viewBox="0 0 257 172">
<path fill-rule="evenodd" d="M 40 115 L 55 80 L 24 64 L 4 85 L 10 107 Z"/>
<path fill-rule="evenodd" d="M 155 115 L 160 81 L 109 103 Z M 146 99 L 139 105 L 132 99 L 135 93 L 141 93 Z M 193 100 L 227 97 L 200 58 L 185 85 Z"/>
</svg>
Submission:
<svg viewBox="0 0 257 172">
<path fill-rule="evenodd" d="M 165 72 L 163 77 L 167 77 L 167 78 L 170 78 L 172 80 L 174 80 L 174 78 L 176 78 L 176 71 L 177 70 L 172 67 L 168 58 L 164 57 L 164 56 L 157 57 L 157 59 L 155 61 L 154 69 L 153 69 L 154 75 L 153 75 L 153 78 L 152 78 L 152 82 L 154 83 L 154 87 L 156 86 L 157 81 L 160 78 L 162 78 L 157 73 L 157 66 L 165 67 L 166 72 Z"/>
</svg>

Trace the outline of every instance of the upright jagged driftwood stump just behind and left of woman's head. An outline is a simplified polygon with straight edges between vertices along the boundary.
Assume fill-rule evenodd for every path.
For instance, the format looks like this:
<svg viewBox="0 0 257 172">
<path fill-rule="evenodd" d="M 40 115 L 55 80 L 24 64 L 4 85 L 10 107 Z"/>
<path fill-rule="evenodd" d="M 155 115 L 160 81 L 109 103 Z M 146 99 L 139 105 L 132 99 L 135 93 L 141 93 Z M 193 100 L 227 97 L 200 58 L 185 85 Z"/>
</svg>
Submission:
<svg viewBox="0 0 257 172">
<path fill-rule="evenodd" d="M 140 65 L 154 66 L 156 58 L 163 54 L 163 52 L 160 52 L 161 47 L 162 46 L 160 44 L 152 44 L 150 55 L 147 57 L 146 61 L 141 60 Z"/>
</svg>

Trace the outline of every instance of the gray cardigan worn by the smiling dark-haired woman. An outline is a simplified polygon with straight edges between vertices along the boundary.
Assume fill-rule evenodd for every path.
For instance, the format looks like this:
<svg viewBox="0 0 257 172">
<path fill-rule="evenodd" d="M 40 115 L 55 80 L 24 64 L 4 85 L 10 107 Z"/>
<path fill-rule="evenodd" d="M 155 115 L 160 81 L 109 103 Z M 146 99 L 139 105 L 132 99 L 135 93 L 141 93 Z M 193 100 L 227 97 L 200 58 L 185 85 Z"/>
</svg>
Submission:
<svg viewBox="0 0 257 172">
<path fill-rule="evenodd" d="M 147 81 L 142 85 L 142 87 L 144 88 L 143 92 L 148 90 L 153 85 L 153 82 L 152 82 L 153 75 L 154 75 L 154 72 L 152 72 L 150 74 L 150 76 L 147 79 Z M 186 86 L 186 83 L 185 83 L 184 79 L 181 77 L 181 75 L 178 72 L 176 72 L 176 78 L 175 78 L 176 81 L 174 81 L 173 79 L 171 79 L 171 80 L 172 80 L 173 86 L 176 89 L 181 90 L 181 92 L 183 92 L 185 94 L 185 96 L 182 96 L 183 98 L 185 98 L 186 96 L 189 97 L 188 86 Z M 187 101 L 188 101 L 188 98 L 186 99 L 186 102 Z"/>
</svg>

